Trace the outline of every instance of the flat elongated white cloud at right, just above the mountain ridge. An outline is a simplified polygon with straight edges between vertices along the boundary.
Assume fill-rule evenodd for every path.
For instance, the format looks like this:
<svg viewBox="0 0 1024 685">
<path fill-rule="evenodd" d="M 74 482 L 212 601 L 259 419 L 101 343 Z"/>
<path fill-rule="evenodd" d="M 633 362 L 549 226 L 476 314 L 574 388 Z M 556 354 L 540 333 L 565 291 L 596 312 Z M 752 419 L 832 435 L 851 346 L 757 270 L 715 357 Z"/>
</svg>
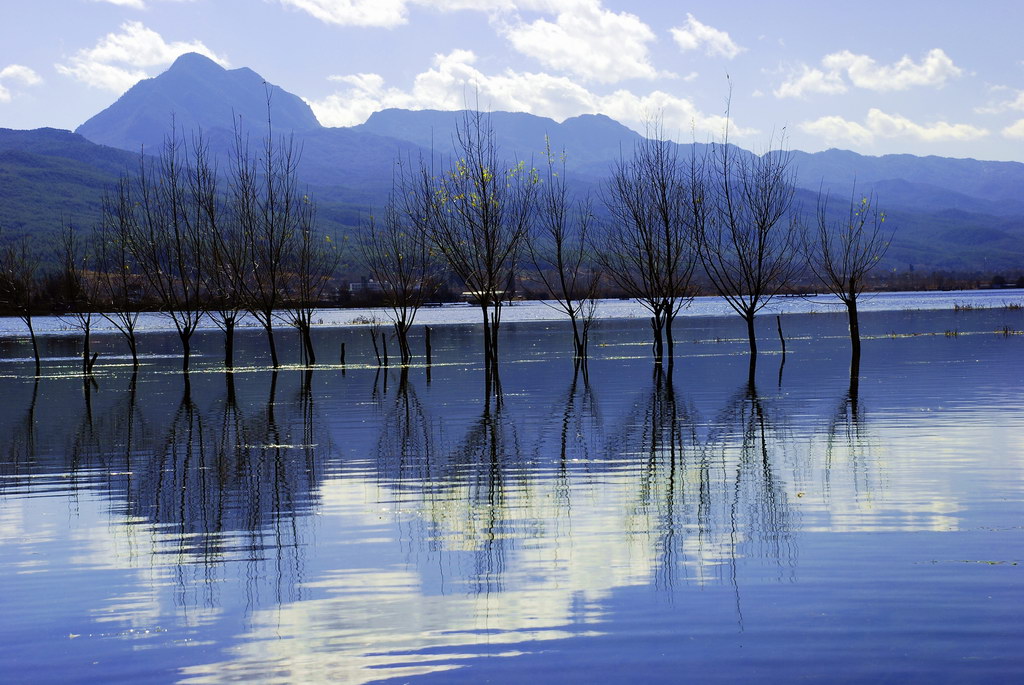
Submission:
<svg viewBox="0 0 1024 685">
<path fill-rule="evenodd" d="M 868 110 L 863 124 L 833 116 L 805 122 L 800 128 L 829 142 L 852 144 L 867 144 L 877 138 L 916 138 L 926 142 L 977 140 L 989 134 L 988 129 L 970 124 L 944 121 L 919 124 L 902 115 L 887 114 L 876 108 Z"/>
</svg>

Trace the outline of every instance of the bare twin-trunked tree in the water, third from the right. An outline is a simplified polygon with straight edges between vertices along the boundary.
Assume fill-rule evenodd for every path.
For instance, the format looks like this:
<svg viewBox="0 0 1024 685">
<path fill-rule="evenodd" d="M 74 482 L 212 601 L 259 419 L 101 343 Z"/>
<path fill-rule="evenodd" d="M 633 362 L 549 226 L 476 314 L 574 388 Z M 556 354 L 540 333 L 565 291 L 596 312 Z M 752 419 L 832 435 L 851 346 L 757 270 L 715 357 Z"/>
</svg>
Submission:
<svg viewBox="0 0 1024 685">
<path fill-rule="evenodd" d="M 694 295 L 697 263 L 691 188 L 679 147 L 666 139 L 660 124 L 648 124 L 633 157 L 621 159 L 605 191 L 611 214 L 599 252 L 608 275 L 651 313 L 655 363 L 668 348 L 672 363 L 672 326 Z"/>
</svg>

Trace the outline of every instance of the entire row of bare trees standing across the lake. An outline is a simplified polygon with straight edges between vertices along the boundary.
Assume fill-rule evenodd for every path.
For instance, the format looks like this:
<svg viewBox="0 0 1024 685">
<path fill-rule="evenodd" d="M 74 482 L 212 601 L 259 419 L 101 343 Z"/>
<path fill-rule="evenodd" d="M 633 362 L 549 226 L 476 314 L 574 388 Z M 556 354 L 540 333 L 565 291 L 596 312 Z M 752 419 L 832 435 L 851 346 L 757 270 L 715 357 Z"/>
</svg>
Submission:
<svg viewBox="0 0 1024 685">
<path fill-rule="evenodd" d="M 570 190 L 564 154 L 549 143 L 541 170 L 507 163 L 485 113 L 464 115 L 446 164 L 435 157 L 399 161 L 388 202 L 368 219 L 359 251 L 390 309 L 401 362 L 413 356 L 409 332 L 418 309 L 454 277 L 480 309 L 484 366 L 488 379 L 497 374 L 503 307 L 527 264 L 568 318 L 584 369 L 605 285 L 649 311 L 655 363 L 668 357 L 671 366 L 674 324 L 705 279 L 745 322 L 753 369 L 756 315 L 807 270 L 847 305 L 859 357 L 857 299 L 890 238 L 873 199 L 854 192 L 848 214 L 836 218 L 820 192 L 811 227 L 794 207 L 786 152 L 744 153 L 726 129 L 720 142 L 683 155 L 659 123 L 646 133 L 611 170 L 599 199 L 604 222 L 591 198 Z M 268 122 L 255 151 L 238 127 L 233 142 L 222 172 L 201 134 L 185 140 L 172 132 L 158 155 L 141 155 L 135 172 L 103 198 L 94 231 L 65 230 L 61 301 L 85 335 L 86 373 L 94 360 L 93 312 L 123 335 L 138 362 L 143 304 L 173 325 L 184 371 L 205 316 L 223 331 L 228 369 L 245 314 L 264 329 L 273 367 L 281 323 L 298 332 L 304 360 L 315 362 L 313 314 L 339 261 L 337 242 L 316 230 L 291 139 L 275 138 Z M 32 332 L 38 258 L 27 242 L 9 244 L 0 269 L 0 295 Z M 34 335 L 33 343 L 38 367 Z"/>
</svg>

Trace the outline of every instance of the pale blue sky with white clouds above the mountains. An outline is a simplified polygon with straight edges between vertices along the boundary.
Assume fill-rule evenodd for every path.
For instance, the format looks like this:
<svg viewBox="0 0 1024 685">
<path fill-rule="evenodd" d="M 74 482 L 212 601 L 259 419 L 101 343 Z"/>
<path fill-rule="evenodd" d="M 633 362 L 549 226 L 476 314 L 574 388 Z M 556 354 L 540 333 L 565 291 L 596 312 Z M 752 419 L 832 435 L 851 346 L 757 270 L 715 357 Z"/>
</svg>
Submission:
<svg viewBox="0 0 1024 685">
<path fill-rule="evenodd" d="M 605 114 L 681 140 L 1024 162 L 1024 2 L 0 0 L 0 127 L 74 129 L 183 52 L 326 126 Z"/>
</svg>

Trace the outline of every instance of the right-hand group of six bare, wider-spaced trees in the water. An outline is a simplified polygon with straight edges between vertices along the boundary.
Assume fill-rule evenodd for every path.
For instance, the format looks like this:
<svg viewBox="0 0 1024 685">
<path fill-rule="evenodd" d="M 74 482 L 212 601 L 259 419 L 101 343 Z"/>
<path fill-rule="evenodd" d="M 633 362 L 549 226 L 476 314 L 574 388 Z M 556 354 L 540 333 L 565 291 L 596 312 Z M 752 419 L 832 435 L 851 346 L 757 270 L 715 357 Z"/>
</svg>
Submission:
<svg viewBox="0 0 1024 685">
<path fill-rule="evenodd" d="M 755 319 L 796 276 L 810 271 L 846 304 L 859 358 L 857 299 L 891 233 L 873 198 L 854 188 L 847 215 L 819 192 L 812 219 L 795 207 L 795 168 L 782 145 L 763 155 L 729 142 L 684 156 L 653 122 L 612 168 L 597 225 L 589 197 L 566 183 L 564 155 L 546 149 L 546 169 L 501 156 L 489 118 L 467 112 L 446 165 L 399 162 L 380 218 L 371 218 L 364 259 L 382 285 L 409 360 L 408 331 L 446 269 L 480 307 L 488 374 L 497 371 L 503 305 L 524 262 L 564 311 L 585 360 L 598 289 L 612 284 L 650 313 L 655 363 L 673 363 L 677 315 L 710 284 L 742 317 L 757 358 Z M 777 141 L 784 142 L 784 140 Z"/>
</svg>

